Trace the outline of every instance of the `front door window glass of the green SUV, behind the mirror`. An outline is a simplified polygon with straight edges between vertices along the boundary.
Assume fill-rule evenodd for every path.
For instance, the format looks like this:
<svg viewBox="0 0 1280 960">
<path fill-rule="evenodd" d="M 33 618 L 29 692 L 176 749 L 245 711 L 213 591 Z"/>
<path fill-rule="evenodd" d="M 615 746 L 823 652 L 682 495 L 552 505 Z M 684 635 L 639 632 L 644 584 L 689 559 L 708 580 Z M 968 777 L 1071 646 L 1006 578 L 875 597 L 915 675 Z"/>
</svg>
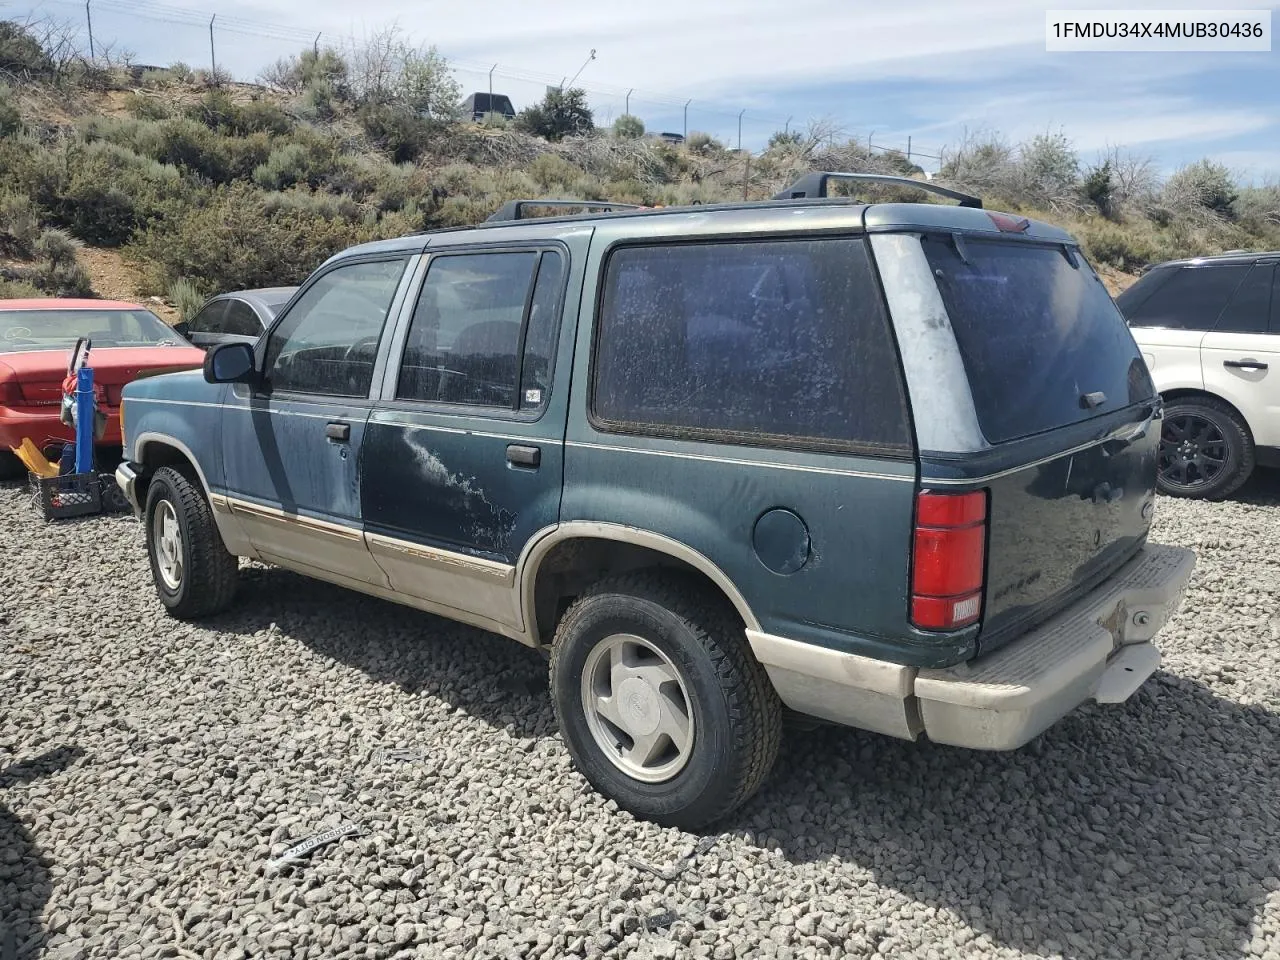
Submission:
<svg viewBox="0 0 1280 960">
<path fill-rule="evenodd" d="M 268 342 L 266 379 L 271 389 L 367 397 L 378 343 L 404 262 L 348 264 L 307 287 Z"/>
</svg>

